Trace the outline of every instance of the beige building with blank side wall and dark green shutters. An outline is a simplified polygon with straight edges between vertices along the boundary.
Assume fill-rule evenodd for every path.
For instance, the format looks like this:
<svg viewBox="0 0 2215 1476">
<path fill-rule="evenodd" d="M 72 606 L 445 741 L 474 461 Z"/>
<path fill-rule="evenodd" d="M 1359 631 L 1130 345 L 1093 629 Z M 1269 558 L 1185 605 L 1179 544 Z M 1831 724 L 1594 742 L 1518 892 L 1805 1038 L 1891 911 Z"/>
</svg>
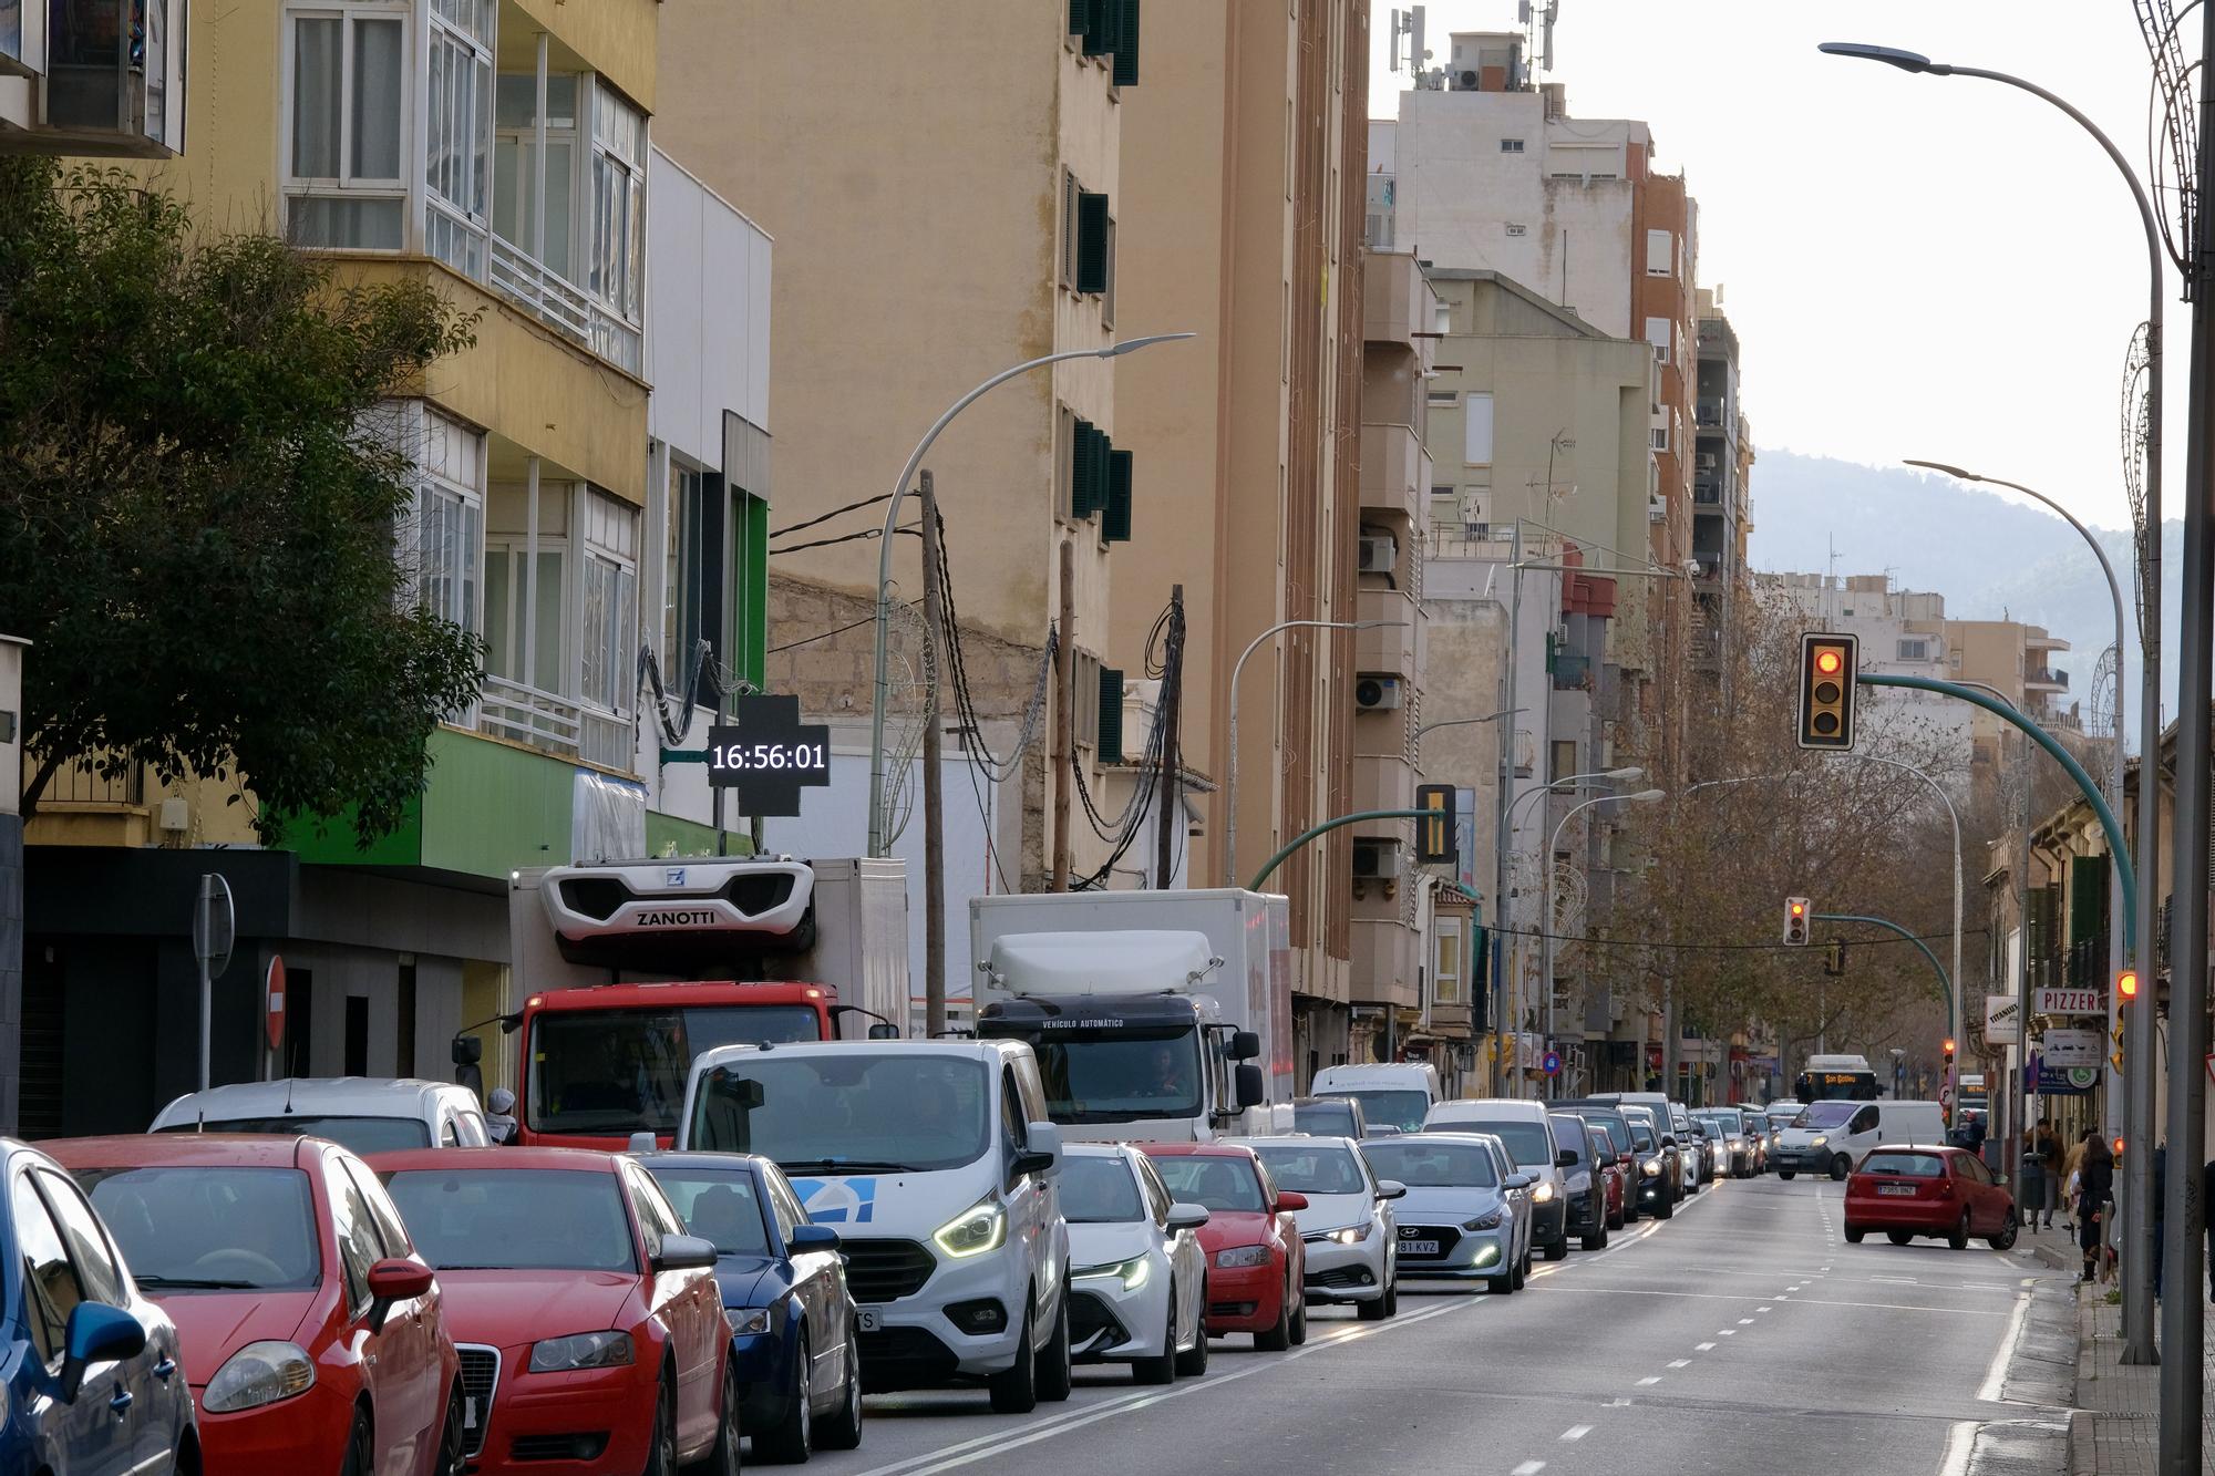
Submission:
<svg viewBox="0 0 2215 1476">
<path fill-rule="evenodd" d="M 1026 891 L 1112 878 L 1136 844 L 1132 831 L 1150 822 L 1147 807 L 1132 804 L 1139 769 L 1125 762 L 1147 736 L 1119 720 L 1125 678 L 1143 669 L 1112 656 L 1112 612 L 1127 598 L 1152 623 L 1172 578 L 1114 554 L 1167 499 L 1119 434 L 1116 370 L 1103 355 L 1134 335 L 1216 332 L 1139 321 L 1121 304 L 1119 255 L 1132 230 L 1119 226 L 1119 162 L 1123 111 L 1141 84 L 1136 9 L 660 7 L 658 137 L 777 239 L 771 377 L 786 492 L 769 605 L 789 647 L 780 680 L 811 720 L 833 727 L 833 789 L 868 791 L 884 552 L 873 530 L 899 468 L 972 386 L 1079 355 L 966 406 L 924 463 L 966 632 L 966 703 L 948 742 L 983 742 L 995 771 L 1014 762 L 1003 785 L 948 802 L 975 800 L 990 818 L 988 875 Z M 857 84 L 828 78 L 824 62 L 846 49 L 897 64 Z M 1156 51 L 1150 31 L 1147 58 Z M 1150 348 L 1134 363 L 1178 352 L 1192 346 Z M 908 674 L 886 711 L 897 738 L 921 722 L 924 636 L 910 614 L 924 594 L 919 541 L 899 536 L 890 567 L 902 603 L 895 660 Z M 1201 585 L 1187 594 L 1198 598 Z M 1057 680 L 1039 714 L 1030 705 L 1054 632 Z M 857 824 L 846 847 L 864 842 Z"/>
</svg>

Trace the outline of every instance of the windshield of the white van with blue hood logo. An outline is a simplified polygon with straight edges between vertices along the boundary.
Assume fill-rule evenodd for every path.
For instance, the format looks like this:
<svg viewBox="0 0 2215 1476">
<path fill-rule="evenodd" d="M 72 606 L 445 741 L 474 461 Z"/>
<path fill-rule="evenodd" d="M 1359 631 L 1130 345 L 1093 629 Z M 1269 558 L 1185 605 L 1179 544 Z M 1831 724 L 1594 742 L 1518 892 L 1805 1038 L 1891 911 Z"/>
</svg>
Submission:
<svg viewBox="0 0 2215 1476">
<path fill-rule="evenodd" d="M 983 1062 L 961 1055 L 744 1055 L 700 1079 L 687 1148 L 760 1152 L 791 1175 L 933 1172 L 986 1155 Z"/>
</svg>

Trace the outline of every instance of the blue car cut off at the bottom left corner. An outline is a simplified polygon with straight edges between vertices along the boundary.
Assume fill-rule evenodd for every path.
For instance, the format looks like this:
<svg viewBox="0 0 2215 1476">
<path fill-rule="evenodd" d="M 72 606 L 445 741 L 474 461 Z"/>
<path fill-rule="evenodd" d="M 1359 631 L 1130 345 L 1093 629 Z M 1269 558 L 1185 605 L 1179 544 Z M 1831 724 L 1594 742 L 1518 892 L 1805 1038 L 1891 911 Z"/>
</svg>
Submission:
<svg viewBox="0 0 2215 1476">
<path fill-rule="evenodd" d="M 60 1164 L 0 1139 L 0 1476 L 199 1472 L 177 1325 Z"/>
</svg>

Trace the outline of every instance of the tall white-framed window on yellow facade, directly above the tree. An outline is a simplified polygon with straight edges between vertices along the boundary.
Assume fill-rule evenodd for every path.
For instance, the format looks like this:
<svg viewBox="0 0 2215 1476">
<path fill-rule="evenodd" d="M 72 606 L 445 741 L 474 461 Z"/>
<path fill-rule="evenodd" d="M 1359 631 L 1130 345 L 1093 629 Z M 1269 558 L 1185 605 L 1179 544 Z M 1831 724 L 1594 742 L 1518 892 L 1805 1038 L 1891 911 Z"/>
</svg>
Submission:
<svg viewBox="0 0 2215 1476">
<path fill-rule="evenodd" d="M 403 244 L 405 13 L 390 2 L 288 13 L 286 233 L 299 246 Z"/>
</svg>

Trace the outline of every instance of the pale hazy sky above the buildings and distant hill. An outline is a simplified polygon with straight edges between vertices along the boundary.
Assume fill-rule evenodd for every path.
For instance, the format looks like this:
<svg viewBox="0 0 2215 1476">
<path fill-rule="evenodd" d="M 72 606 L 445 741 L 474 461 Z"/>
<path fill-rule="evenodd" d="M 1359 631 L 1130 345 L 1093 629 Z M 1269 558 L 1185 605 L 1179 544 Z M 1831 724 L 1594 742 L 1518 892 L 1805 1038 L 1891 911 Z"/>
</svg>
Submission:
<svg viewBox="0 0 2215 1476">
<path fill-rule="evenodd" d="M 1555 71 L 1582 117 L 1652 124 L 1699 199 L 1699 279 L 1743 348 L 1756 445 L 1951 461 L 2126 525 L 2120 388 L 2146 310 L 2137 211 L 2049 104 L 1974 78 L 1816 53 L 1863 40 L 2029 78 L 2146 173 L 2146 49 L 2126 0 L 1559 0 Z M 1376 0 L 1371 117 L 1398 115 Z M 1400 0 L 1398 9 L 1407 9 Z M 1426 47 L 1515 27 L 1515 0 L 1431 0 Z M 2197 51 L 2197 16 L 2186 20 Z M 1533 162 L 1535 164 L 1535 162 Z M 2184 401 L 2173 297 L 2168 403 Z M 2171 414 L 2168 485 L 2184 419 Z M 1761 468 L 1754 468 L 1759 510 Z M 2182 501 L 2171 494 L 2168 516 Z"/>
</svg>

